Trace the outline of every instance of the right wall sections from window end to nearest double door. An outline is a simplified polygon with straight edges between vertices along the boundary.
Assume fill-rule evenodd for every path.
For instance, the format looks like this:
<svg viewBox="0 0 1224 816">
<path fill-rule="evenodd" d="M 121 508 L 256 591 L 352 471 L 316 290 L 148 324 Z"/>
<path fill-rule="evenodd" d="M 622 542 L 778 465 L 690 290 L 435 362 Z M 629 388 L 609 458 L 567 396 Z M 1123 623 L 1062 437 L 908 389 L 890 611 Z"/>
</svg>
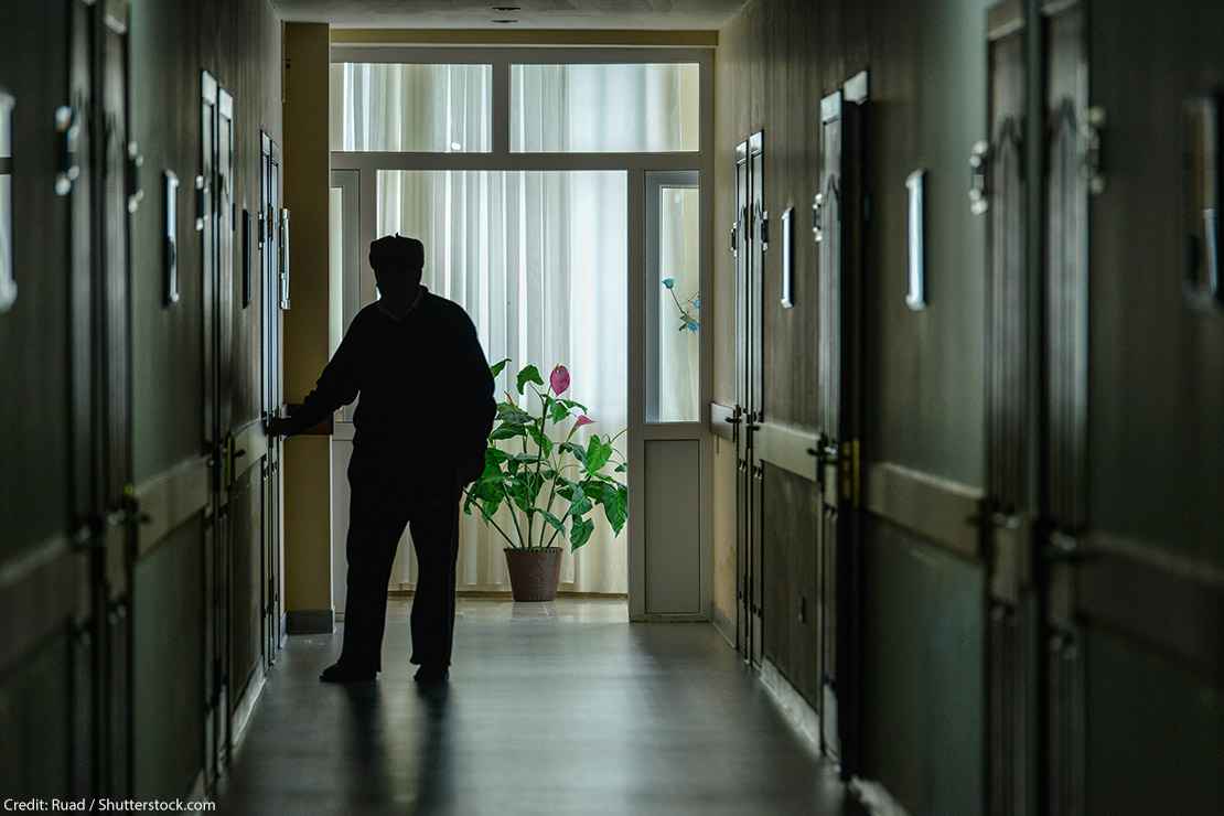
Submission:
<svg viewBox="0 0 1224 816">
<path fill-rule="evenodd" d="M 814 433 L 818 247 L 807 225 L 819 104 L 867 69 L 864 458 L 966 492 L 982 488 L 984 470 L 984 223 L 966 191 L 969 149 L 985 131 L 985 5 L 941 0 L 914 13 L 894 0 L 755 0 L 720 32 L 716 75 L 715 400 L 734 402 L 734 265 L 721 240 L 734 220 L 733 150 L 763 130 L 766 209 L 774 219 L 787 207 L 796 213 L 793 310 L 778 306 L 781 253 L 765 256 L 765 414 Z M 912 312 L 905 181 L 919 168 L 928 171 L 929 306 Z M 733 506 L 734 454 L 723 448 L 716 504 Z M 794 614 L 821 598 L 815 491 L 765 467 L 765 657 L 819 707 L 814 615 L 799 624 Z M 730 510 L 715 516 L 716 565 L 734 564 L 733 521 Z M 931 543 L 885 519 L 867 529 L 864 765 L 914 814 L 971 814 L 984 785 L 983 571 Z M 716 619 L 734 619 L 734 598 L 733 568 L 717 569 Z"/>
</svg>

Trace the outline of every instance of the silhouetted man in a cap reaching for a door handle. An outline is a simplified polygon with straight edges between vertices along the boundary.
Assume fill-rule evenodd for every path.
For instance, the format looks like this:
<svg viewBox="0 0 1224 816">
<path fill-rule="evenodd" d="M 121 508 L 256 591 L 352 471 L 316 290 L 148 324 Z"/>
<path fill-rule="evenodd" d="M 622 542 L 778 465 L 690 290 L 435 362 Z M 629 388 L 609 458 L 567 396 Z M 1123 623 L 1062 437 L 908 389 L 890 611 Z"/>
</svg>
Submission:
<svg viewBox="0 0 1224 816">
<path fill-rule="evenodd" d="M 421 285 L 425 247 L 399 235 L 370 245 L 382 297 L 357 312 L 315 390 L 269 433 L 317 425 L 359 394 L 349 464 L 349 590 L 344 648 L 324 683 L 382 669 L 387 585 L 405 525 L 420 565 L 412 601 L 416 679 L 444 681 L 455 614 L 459 497 L 480 476 L 493 426 L 493 378 L 471 319 Z"/>
</svg>

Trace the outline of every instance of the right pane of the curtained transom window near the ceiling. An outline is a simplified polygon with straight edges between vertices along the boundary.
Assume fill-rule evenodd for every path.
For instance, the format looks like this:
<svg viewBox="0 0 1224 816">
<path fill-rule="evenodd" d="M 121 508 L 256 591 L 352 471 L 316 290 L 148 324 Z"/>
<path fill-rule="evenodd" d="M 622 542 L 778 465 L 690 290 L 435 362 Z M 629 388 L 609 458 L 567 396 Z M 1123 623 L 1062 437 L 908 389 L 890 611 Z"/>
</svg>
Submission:
<svg viewBox="0 0 1224 816">
<path fill-rule="evenodd" d="M 698 149 L 696 64 L 510 66 L 510 150 Z"/>
</svg>

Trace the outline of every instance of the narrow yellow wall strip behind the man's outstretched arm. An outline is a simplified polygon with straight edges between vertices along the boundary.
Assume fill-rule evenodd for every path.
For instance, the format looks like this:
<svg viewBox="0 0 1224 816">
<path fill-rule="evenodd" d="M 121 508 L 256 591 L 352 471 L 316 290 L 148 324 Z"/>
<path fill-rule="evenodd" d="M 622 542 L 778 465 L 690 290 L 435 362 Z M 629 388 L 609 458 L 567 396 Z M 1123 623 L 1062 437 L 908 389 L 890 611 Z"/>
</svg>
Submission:
<svg viewBox="0 0 1224 816">
<path fill-rule="evenodd" d="M 328 46 L 324 23 L 285 24 L 285 206 L 293 308 L 285 399 L 301 402 L 328 360 Z M 285 608 L 332 608 L 332 465 L 327 437 L 285 445 Z"/>
</svg>

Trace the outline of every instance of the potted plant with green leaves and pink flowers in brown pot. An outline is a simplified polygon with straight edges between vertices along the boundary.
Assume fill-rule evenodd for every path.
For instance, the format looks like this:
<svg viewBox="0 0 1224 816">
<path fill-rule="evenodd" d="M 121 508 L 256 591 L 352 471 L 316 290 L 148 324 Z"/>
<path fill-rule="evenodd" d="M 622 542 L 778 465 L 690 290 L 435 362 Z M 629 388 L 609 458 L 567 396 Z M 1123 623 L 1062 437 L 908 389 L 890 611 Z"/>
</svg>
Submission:
<svg viewBox="0 0 1224 816">
<path fill-rule="evenodd" d="M 508 363 L 491 366 L 493 377 Z M 594 420 L 585 405 L 562 396 L 569 390 L 564 366 L 552 369 L 547 385 L 539 368 L 525 366 L 515 387 L 521 404 L 510 393 L 497 404 L 485 470 L 464 492 L 464 513 L 471 515 L 475 508 L 506 540 L 514 599 L 552 601 L 561 579 L 557 544 L 568 540 L 573 552 L 590 541 L 596 505 L 616 535 L 624 529 L 629 493 L 618 473 L 627 465 L 613 444 L 624 432 L 592 434 L 585 445 L 575 439 Z M 509 524 L 494 517 L 503 505 Z"/>
</svg>

